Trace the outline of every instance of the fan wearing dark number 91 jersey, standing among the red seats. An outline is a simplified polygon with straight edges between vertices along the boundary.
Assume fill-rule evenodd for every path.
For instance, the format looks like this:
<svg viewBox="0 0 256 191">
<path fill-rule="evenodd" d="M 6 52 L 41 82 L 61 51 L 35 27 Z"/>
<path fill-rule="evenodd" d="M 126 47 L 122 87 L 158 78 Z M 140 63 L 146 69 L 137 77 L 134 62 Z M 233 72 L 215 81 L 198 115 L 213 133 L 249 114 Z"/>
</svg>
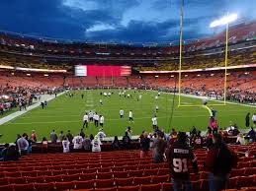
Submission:
<svg viewBox="0 0 256 191">
<path fill-rule="evenodd" d="M 169 152 L 170 173 L 174 191 L 179 191 L 182 186 L 186 187 L 186 191 L 192 190 L 189 171 L 190 162 L 193 164 L 194 172 L 198 173 L 197 159 L 187 145 L 187 135 L 180 132 L 177 141 L 173 143 Z"/>
</svg>

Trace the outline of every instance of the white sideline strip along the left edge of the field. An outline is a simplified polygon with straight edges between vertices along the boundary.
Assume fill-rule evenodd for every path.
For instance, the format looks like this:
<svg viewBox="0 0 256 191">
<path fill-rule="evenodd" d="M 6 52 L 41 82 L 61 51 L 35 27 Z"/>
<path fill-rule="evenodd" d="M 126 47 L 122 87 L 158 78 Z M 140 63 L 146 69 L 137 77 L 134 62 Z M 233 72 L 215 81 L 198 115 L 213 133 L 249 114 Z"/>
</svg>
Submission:
<svg viewBox="0 0 256 191">
<path fill-rule="evenodd" d="M 61 96 L 61 95 L 65 94 L 65 93 L 66 93 L 66 92 L 60 93 L 60 94 L 58 94 L 57 96 Z M 45 100 L 45 99 L 46 99 L 47 101 L 49 101 L 49 100 L 53 99 L 54 97 L 55 97 L 55 95 L 51 95 L 51 96 L 49 96 L 49 95 L 44 95 L 44 96 L 42 96 L 42 100 Z M 38 107 L 38 106 L 40 106 L 40 105 L 41 105 L 41 101 L 38 101 L 38 102 L 34 103 L 33 105 L 28 106 L 28 107 L 27 107 L 27 110 L 16 111 L 16 112 L 14 112 L 14 113 L 11 113 L 10 115 L 7 115 L 7 116 L 5 116 L 5 117 L 3 117 L 3 118 L 0 119 L 0 125 L 2 125 L 2 124 L 4 124 L 4 123 L 7 123 L 7 122 L 9 122 L 9 121 L 11 121 L 11 120 L 13 120 L 13 119 L 15 119 L 16 117 L 19 117 L 19 116 L 21 116 L 21 115 L 27 113 L 28 111 L 30 111 L 30 110 L 32 110 L 32 109 L 34 109 L 34 108 L 36 108 L 36 107 Z"/>
</svg>

